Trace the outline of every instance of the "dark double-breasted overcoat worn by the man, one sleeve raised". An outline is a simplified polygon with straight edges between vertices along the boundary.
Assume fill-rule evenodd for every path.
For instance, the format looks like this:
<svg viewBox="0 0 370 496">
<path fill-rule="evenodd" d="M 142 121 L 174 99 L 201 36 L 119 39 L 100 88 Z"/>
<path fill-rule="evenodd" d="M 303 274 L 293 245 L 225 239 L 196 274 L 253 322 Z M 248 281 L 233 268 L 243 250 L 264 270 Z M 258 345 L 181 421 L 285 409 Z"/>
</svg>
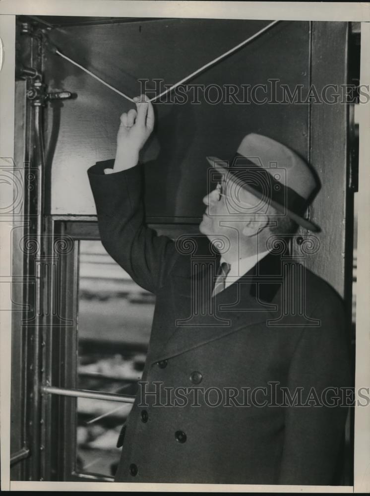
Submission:
<svg viewBox="0 0 370 496">
<path fill-rule="evenodd" d="M 341 299 L 279 249 L 211 298 L 220 255 L 146 227 L 141 167 L 112 166 L 88 171 L 102 243 L 156 295 L 116 481 L 331 484 L 351 384 Z"/>
</svg>

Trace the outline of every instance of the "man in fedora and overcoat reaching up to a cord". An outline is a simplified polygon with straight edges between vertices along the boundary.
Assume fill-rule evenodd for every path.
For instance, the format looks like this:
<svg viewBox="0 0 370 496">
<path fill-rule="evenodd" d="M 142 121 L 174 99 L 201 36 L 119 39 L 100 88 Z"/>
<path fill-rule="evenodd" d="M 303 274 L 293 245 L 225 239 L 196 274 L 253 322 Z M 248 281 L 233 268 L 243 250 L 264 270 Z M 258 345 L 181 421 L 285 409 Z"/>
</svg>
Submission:
<svg viewBox="0 0 370 496">
<path fill-rule="evenodd" d="M 154 113 L 135 102 L 114 163 L 88 171 L 103 245 L 156 294 L 116 481 L 333 483 L 347 414 L 335 400 L 350 383 L 342 302 L 286 242 L 297 223 L 315 229 L 303 218 L 307 164 L 248 135 L 229 168 L 208 159 L 219 182 L 204 198 L 204 236 L 157 236 L 138 165 Z"/>
</svg>

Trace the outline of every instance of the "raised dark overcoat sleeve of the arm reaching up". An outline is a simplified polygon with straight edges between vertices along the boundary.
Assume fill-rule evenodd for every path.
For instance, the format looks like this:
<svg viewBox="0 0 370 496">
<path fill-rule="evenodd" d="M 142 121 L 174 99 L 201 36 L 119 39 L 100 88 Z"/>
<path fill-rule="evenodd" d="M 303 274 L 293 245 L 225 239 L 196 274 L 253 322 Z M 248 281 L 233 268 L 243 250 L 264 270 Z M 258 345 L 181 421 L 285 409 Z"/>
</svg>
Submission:
<svg viewBox="0 0 370 496">
<path fill-rule="evenodd" d="M 144 224 L 140 164 L 104 174 L 113 160 L 98 162 L 87 174 L 104 248 L 142 288 L 156 293 L 175 254 L 175 243 Z"/>
</svg>

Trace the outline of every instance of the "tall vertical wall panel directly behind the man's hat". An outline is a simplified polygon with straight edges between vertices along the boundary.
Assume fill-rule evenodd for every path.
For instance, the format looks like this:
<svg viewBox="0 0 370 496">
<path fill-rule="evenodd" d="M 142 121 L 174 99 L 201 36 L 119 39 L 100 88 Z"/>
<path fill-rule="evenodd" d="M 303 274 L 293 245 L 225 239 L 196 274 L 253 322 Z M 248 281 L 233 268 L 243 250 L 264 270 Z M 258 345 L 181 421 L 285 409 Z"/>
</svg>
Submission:
<svg viewBox="0 0 370 496">
<path fill-rule="evenodd" d="M 319 94 L 327 84 L 347 83 L 347 37 L 345 22 L 312 24 L 311 83 Z M 309 158 L 321 182 L 310 215 L 321 233 L 319 252 L 307 265 L 344 296 L 348 105 L 312 104 L 310 123 Z"/>
</svg>

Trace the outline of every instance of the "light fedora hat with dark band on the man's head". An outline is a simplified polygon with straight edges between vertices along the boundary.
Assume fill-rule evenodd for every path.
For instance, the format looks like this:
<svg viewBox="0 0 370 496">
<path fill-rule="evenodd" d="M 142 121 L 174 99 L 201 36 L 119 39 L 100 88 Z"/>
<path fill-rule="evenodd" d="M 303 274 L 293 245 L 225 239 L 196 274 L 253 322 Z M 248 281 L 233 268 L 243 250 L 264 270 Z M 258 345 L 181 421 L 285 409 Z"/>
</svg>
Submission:
<svg viewBox="0 0 370 496">
<path fill-rule="evenodd" d="M 247 134 L 231 162 L 207 157 L 218 172 L 309 231 L 304 218 L 318 184 L 308 164 L 293 150 L 260 134 Z"/>
</svg>

